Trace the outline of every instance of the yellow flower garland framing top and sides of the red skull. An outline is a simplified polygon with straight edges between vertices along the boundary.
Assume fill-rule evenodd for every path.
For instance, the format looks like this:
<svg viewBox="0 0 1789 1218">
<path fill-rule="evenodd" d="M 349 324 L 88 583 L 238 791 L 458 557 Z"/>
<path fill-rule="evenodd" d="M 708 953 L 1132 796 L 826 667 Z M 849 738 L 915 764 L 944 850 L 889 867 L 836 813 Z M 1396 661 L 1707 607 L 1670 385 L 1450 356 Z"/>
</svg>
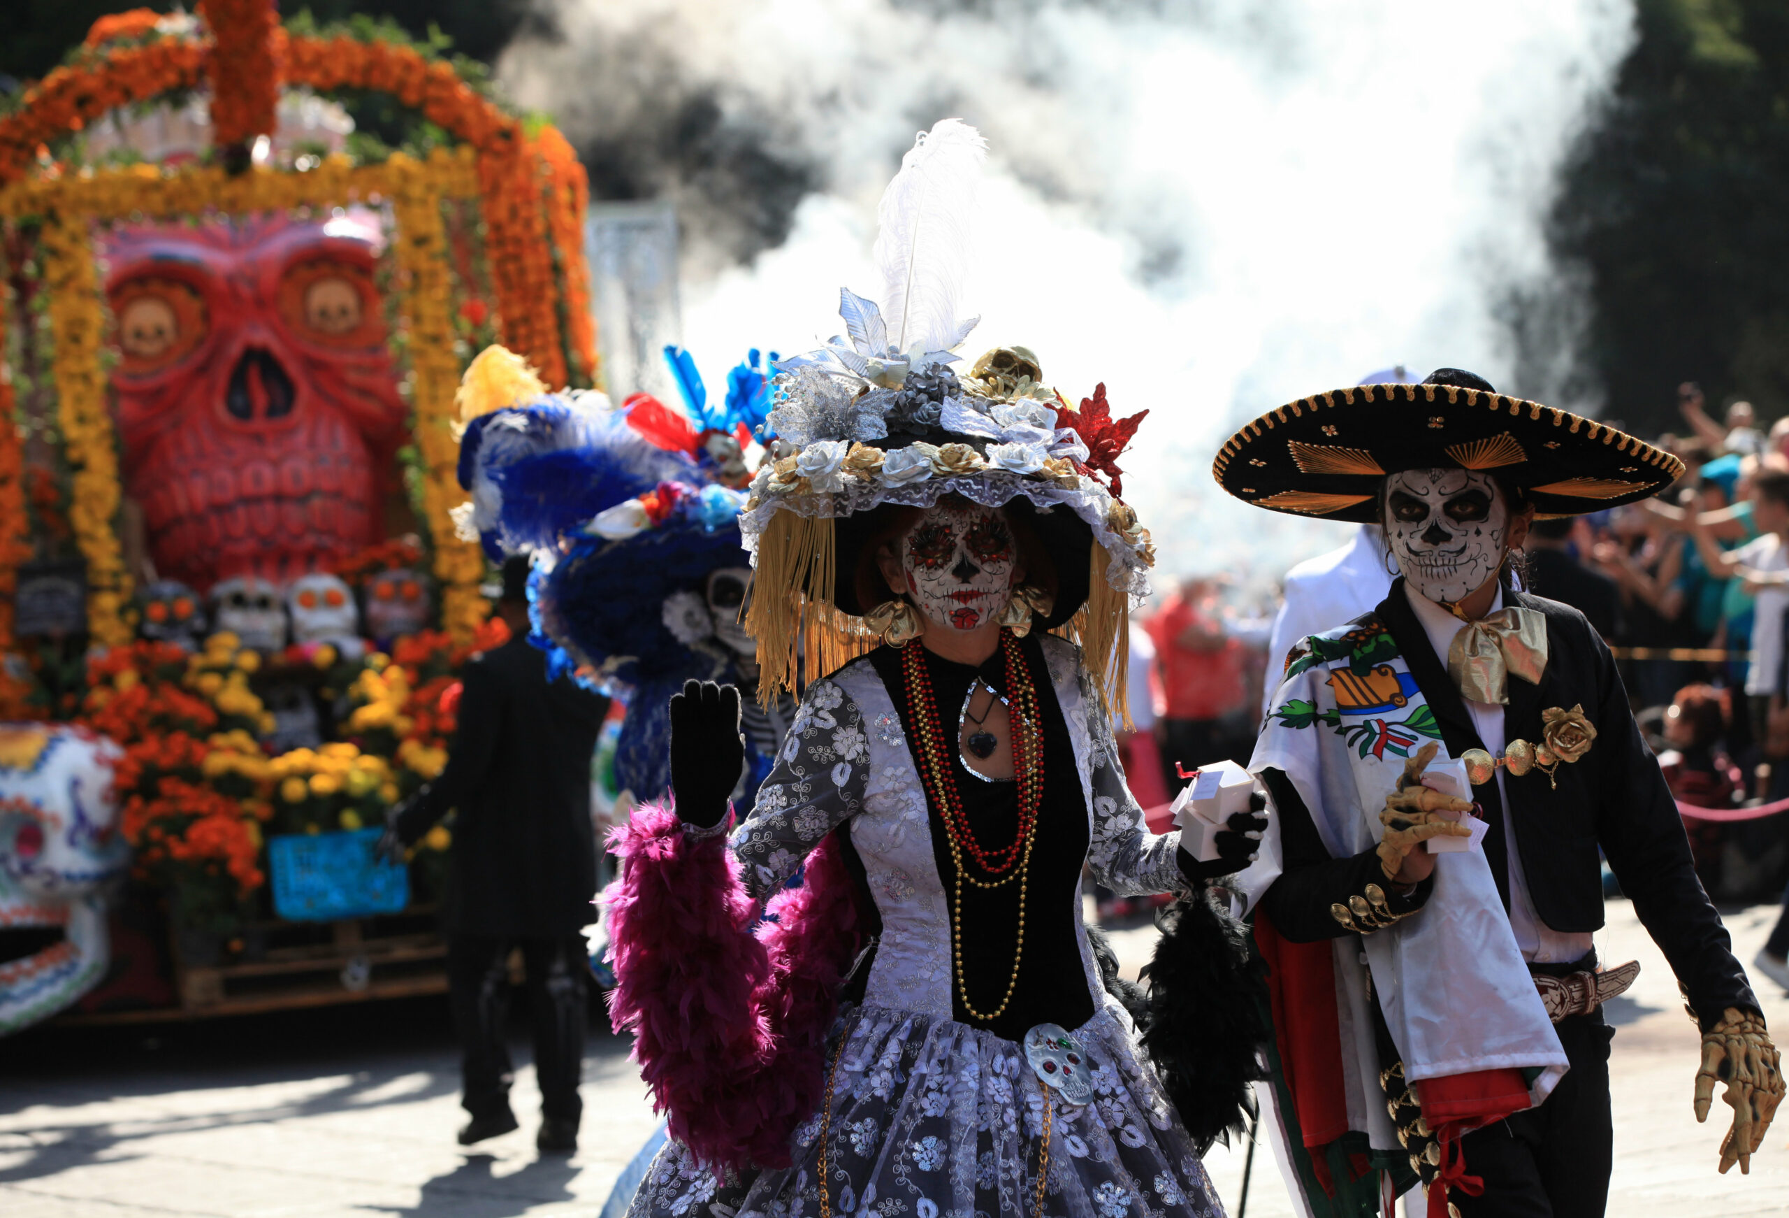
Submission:
<svg viewBox="0 0 1789 1218">
<path fill-rule="evenodd" d="M 454 537 L 447 509 L 462 496 L 456 482 L 458 442 L 453 437 L 454 356 L 451 278 L 445 262 L 444 199 L 476 199 L 478 152 L 435 149 L 426 161 L 394 154 L 383 165 L 354 167 L 329 158 L 308 172 L 222 168 L 166 170 L 132 165 L 45 177 L 0 190 L 0 217 L 45 215 L 43 229 L 50 324 L 55 339 L 55 389 L 68 460 L 75 467 L 70 519 L 88 561 L 88 630 L 95 643 L 129 643 L 134 632 L 131 575 L 114 521 L 122 503 L 118 441 L 100 371 L 106 310 L 88 226 L 125 217 L 242 215 L 292 211 L 351 202 L 392 201 L 397 217 L 401 310 L 410 335 L 415 437 L 424 459 L 422 505 L 435 541 L 435 575 L 442 584 L 442 623 L 469 639 L 488 607 L 478 586 L 483 557 Z"/>
</svg>

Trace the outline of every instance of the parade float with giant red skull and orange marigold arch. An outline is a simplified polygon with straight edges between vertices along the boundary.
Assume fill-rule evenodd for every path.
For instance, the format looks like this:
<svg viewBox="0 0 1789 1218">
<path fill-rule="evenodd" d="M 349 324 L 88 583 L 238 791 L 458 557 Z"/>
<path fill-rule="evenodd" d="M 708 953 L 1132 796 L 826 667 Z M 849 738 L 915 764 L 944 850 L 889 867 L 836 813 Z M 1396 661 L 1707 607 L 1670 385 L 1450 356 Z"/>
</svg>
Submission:
<svg viewBox="0 0 1789 1218">
<path fill-rule="evenodd" d="M 583 170 L 438 47 L 268 0 L 102 18 L 11 100 L 0 1034 L 438 992 L 451 829 L 342 851 L 503 638 L 467 364 L 598 380 Z"/>
</svg>

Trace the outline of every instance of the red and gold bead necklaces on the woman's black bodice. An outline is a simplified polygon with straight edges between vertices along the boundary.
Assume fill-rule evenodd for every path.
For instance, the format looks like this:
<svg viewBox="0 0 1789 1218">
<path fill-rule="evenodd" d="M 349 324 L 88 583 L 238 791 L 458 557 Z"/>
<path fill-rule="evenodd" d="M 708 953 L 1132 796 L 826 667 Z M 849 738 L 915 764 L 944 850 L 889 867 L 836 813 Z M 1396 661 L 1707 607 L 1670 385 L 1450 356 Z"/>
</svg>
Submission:
<svg viewBox="0 0 1789 1218">
<path fill-rule="evenodd" d="M 998 1019 L 1018 987 L 1020 960 L 1025 956 L 1027 872 L 1030 871 L 1030 847 L 1038 835 L 1038 808 L 1043 802 L 1043 713 L 1038 704 L 1038 688 L 1030 681 L 1030 668 L 1025 665 L 1018 638 L 1011 630 L 1000 630 L 1000 650 L 1005 657 L 1005 679 L 1011 691 L 1007 722 L 1013 731 L 1013 772 L 1018 783 L 1018 833 L 1011 845 L 989 851 L 975 840 L 970 817 L 962 808 L 957 776 L 950 768 L 954 745 L 945 734 L 945 716 L 937 713 L 937 697 L 932 693 L 932 679 L 925 670 L 925 656 L 920 647 L 902 648 L 907 709 L 920 740 L 916 751 L 920 783 L 925 788 L 925 797 L 937 808 L 939 819 L 945 822 L 945 838 L 950 844 L 950 860 L 957 872 L 950 910 L 950 955 L 955 962 L 957 994 L 962 998 L 962 1008 L 982 1023 Z M 964 853 L 975 860 L 984 874 L 998 876 L 998 879 L 970 876 Z M 970 989 L 962 976 L 964 879 L 977 888 L 1000 888 L 1018 879 L 1018 939 L 1013 946 L 1013 973 L 1007 976 L 1005 996 L 989 1012 L 980 1012 L 970 1003 Z"/>
</svg>

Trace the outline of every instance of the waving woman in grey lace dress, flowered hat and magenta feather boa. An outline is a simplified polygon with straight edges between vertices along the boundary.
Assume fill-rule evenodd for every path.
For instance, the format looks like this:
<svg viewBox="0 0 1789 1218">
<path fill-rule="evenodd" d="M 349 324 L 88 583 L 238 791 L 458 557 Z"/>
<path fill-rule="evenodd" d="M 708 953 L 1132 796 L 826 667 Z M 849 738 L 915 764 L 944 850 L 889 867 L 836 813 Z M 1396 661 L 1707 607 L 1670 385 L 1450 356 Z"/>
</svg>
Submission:
<svg viewBox="0 0 1789 1218">
<path fill-rule="evenodd" d="M 1107 681 L 1152 552 L 1097 476 L 1104 396 L 1077 416 L 1016 347 L 948 367 L 982 154 L 955 120 L 920 136 L 880 306 L 846 292 L 850 342 L 780 365 L 789 450 L 741 516 L 760 693 L 798 639 L 812 675 L 776 770 L 735 822 L 739 695 L 691 682 L 674 801 L 614 840 L 612 1012 L 671 1132 L 640 1218 L 1218 1213 L 1199 1155 L 1256 1048 L 1234 942 L 1209 905 L 1188 919 L 1211 1068 L 1177 1111 L 1102 985 L 1081 874 L 1197 890 L 1256 820 L 1200 865 L 1125 790 Z"/>
</svg>

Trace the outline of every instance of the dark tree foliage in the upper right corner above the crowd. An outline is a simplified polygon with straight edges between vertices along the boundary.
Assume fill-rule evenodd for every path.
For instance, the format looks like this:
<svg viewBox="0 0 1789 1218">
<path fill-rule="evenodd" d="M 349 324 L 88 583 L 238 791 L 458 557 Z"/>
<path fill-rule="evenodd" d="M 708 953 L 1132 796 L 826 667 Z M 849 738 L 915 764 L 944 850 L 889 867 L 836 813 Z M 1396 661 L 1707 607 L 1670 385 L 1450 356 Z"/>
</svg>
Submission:
<svg viewBox="0 0 1789 1218">
<path fill-rule="evenodd" d="M 1551 242 L 1589 272 L 1607 414 L 1675 387 L 1789 412 L 1789 4 L 1637 0 L 1639 39 L 1565 167 Z"/>
</svg>

